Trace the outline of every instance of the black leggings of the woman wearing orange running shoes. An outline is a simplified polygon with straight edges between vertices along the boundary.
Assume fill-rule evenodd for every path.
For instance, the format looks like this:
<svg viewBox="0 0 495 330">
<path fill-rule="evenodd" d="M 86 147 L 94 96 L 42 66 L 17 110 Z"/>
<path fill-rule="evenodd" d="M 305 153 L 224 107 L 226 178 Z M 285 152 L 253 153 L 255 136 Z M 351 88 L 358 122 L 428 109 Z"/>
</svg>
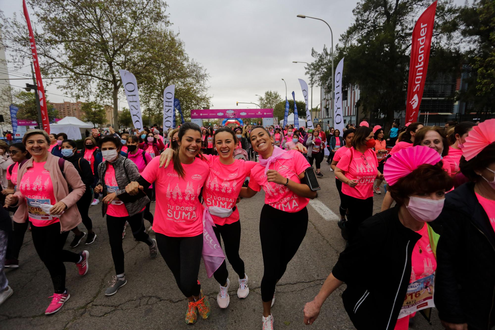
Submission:
<svg viewBox="0 0 495 330">
<path fill-rule="evenodd" d="M 192 237 L 170 237 L 156 233 L 155 237 L 158 250 L 184 296 L 187 298 L 198 296 L 201 289 L 198 274 L 203 250 L 203 234 Z"/>
</svg>

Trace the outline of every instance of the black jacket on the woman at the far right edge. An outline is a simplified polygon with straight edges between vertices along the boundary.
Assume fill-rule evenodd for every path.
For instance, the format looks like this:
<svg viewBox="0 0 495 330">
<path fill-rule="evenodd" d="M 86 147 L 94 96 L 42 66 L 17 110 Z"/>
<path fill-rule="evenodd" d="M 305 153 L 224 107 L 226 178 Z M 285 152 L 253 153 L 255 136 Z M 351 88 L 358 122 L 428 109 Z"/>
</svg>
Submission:
<svg viewBox="0 0 495 330">
<path fill-rule="evenodd" d="M 435 305 L 441 320 L 495 325 L 495 232 L 468 182 L 446 194 L 437 246 Z"/>
</svg>

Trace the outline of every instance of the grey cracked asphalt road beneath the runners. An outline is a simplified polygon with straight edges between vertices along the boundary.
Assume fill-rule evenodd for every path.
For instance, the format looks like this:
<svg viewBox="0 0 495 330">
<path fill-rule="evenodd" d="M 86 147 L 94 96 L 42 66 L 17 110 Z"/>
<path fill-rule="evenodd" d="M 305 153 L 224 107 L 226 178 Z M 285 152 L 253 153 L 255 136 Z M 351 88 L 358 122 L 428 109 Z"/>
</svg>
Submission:
<svg viewBox="0 0 495 330">
<path fill-rule="evenodd" d="M 317 294 L 346 244 L 337 227 L 340 202 L 335 175 L 325 162 L 321 166 L 324 174 L 319 179 L 322 189 L 318 198 L 308 205 L 306 237 L 276 288 L 272 313 L 277 330 L 354 329 L 342 304 L 345 284 L 327 299 L 312 326 L 302 323 L 304 304 Z M 380 211 L 383 196 L 383 193 L 375 194 L 375 212 Z M 160 256 L 149 259 L 147 245 L 134 241 L 130 228 L 123 239 L 127 285 L 113 296 L 103 294 L 107 282 L 114 275 L 114 268 L 99 204 L 90 209 L 98 235 L 95 243 L 73 249 L 75 252 L 90 251 L 89 272 L 81 277 L 75 265 L 66 263 L 66 286 L 71 297 L 59 312 L 50 316 L 44 315 L 50 301 L 48 297 L 53 294 L 49 274 L 36 254 L 30 233 L 26 233 L 19 257 L 20 268 L 5 272 L 14 293 L 0 306 L 0 329 L 261 329 L 263 262 L 258 221 L 263 201 L 264 193 L 261 191 L 238 204 L 242 223 L 240 254 L 249 276 L 249 296 L 244 300 L 237 297 L 237 275 L 227 263 L 231 300 L 229 307 L 221 310 L 216 303 L 218 283 L 213 277 L 207 278 L 203 266 L 200 268 L 199 279 L 211 305 L 211 315 L 207 320 L 199 318 L 194 326 L 186 325 L 187 300 L 177 288 L 172 273 Z M 153 210 L 154 203 L 151 207 Z M 81 225 L 80 229 L 83 227 Z M 154 237 L 154 232 L 151 231 L 150 235 Z M 66 243 L 67 250 L 71 250 L 71 240 L 72 234 Z M 370 280 L 373 275 L 384 275 L 383 266 L 377 265 L 376 270 L 369 271 Z M 436 310 L 432 316 L 433 326 L 421 315 L 414 319 L 415 325 L 410 329 L 443 329 Z"/>
</svg>

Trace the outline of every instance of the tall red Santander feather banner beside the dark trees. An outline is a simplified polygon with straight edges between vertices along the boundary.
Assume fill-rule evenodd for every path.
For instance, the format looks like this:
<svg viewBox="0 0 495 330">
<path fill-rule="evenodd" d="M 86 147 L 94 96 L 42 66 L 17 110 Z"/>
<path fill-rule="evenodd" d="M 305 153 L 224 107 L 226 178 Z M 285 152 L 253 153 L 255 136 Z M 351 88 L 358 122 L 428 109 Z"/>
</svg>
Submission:
<svg viewBox="0 0 495 330">
<path fill-rule="evenodd" d="M 412 31 L 411 61 L 409 62 L 409 82 L 407 84 L 407 103 L 405 108 L 405 122 L 418 120 L 419 106 L 425 88 L 426 71 L 430 59 L 433 22 L 437 1 L 433 2 L 419 16 Z"/>
</svg>

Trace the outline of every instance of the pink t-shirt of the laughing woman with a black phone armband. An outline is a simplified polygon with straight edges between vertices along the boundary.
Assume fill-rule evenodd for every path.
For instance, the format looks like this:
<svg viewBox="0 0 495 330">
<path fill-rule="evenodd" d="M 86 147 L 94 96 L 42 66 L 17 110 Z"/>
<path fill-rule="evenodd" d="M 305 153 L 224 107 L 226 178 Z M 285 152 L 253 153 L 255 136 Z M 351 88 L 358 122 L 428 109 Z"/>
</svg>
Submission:
<svg viewBox="0 0 495 330">
<path fill-rule="evenodd" d="M 297 150 L 286 151 L 293 156 L 291 159 L 279 159 L 270 165 L 270 169 L 276 169 L 283 177 L 300 183 L 298 174 L 304 172 L 310 165 Z M 260 191 L 261 187 L 265 191 L 265 204 L 275 209 L 289 213 L 295 213 L 302 210 L 309 203 L 309 198 L 296 195 L 291 189 L 283 184 L 268 182 L 265 174 L 265 166 L 257 163 L 251 169 L 251 179 L 249 188 L 254 191 Z"/>
</svg>

